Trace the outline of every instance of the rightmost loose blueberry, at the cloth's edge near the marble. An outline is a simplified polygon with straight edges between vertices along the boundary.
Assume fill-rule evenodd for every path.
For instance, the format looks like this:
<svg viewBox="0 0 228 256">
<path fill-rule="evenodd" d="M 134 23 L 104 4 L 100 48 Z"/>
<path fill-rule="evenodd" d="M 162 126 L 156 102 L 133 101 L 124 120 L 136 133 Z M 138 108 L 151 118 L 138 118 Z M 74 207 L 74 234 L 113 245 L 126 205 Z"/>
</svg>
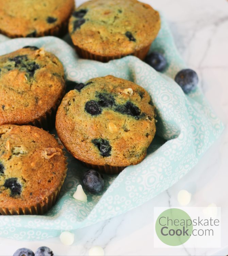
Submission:
<svg viewBox="0 0 228 256">
<path fill-rule="evenodd" d="M 197 73 L 192 69 L 182 69 L 175 76 L 175 82 L 180 85 L 184 93 L 190 93 L 199 82 Z"/>
</svg>

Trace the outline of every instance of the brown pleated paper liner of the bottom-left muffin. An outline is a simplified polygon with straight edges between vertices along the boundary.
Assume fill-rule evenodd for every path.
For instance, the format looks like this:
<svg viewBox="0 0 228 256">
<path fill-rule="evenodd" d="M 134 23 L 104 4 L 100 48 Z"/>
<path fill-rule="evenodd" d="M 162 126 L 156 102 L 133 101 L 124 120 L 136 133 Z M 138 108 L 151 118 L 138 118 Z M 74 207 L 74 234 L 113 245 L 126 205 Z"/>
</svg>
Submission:
<svg viewBox="0 0 228 256">
<path fill-rule="evenodd" d="M 65 151 L 63 151 L 63 154 L 65 156 Z M 25 207 L 25 208 L 9 209 L 5 207 L 0 207 L 0 214 L 1 215 L 43 215 L 44 213 L 49 211 L 59 197 L 60 190 L 66 178 L 67 165 L 68 165 L 67 157 L 65 157 L 64 174 L 58 188 L 56 188 L 53 191 L 53 193 L 51 193 L 51 195 L 49 195 L 48 197 L 45 197 L 42 202 L 37 203 L 36 205 L 32 205 L 31 207 Z"/>
</svg>

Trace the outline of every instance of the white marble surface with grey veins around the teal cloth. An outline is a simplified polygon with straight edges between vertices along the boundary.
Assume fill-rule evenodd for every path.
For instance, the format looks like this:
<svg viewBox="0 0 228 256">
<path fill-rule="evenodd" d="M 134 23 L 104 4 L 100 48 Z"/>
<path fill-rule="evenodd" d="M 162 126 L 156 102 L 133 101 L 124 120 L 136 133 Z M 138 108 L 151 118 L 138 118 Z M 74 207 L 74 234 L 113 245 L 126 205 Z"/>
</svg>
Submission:
<svg viewBox="0 0 228 256">
<path fill-rule="evenodd" d="M 77 1 L 78 5 L 83 1 Z M 199 74 L 201 86 L 215 112 L 228 124 L 228 1 L 144 0 L 163 12 L 177 47 L 190 68 Z M 46 245 L 55 255 L 88 255 L 93 245 L 105 255 L 227 255 L 228 254 L 228 131 L 210 148 L 198 165 L 176 185 L 126 214 L 77 230 L 75 243 L 61 244 L 59 237 L 21 242 L 0 238 L 0 255 L 12 255 L 19 247 Z M 216 203 L 222 210 L 222 247 L 154 248 L 153 207 L 179 206 L 177 194 L 189 190 L 190 206 Z"/>
</svg>

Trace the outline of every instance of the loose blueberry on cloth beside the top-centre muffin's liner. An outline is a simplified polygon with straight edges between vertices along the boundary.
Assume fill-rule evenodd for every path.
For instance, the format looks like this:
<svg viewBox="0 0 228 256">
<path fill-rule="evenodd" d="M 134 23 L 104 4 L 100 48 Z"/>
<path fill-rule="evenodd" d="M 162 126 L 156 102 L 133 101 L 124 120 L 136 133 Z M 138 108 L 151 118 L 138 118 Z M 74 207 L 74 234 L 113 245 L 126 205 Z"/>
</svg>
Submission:
<svg viewBox="0 0 228 256">
<path fill-rule="evenodd" d="M 145 62 L 159 72 L 164 71 L 167 66 L 167 61 L 164 56 L 157 52 L 147 55 Z"/>
</svg>

